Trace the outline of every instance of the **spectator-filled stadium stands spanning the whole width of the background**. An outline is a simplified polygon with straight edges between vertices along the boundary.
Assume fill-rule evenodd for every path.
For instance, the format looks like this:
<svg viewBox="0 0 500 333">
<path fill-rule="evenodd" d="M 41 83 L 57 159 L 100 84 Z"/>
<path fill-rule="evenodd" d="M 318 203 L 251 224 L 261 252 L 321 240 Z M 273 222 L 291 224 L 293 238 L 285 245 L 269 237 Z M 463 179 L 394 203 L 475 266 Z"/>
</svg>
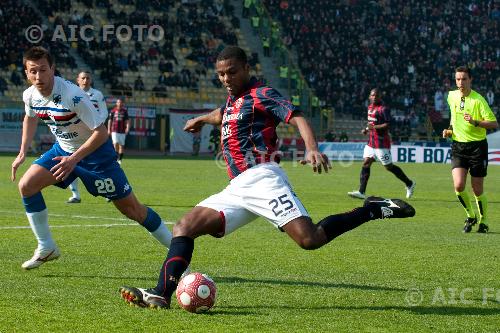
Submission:
<svg viewBox="0 0 500 333">
<path fill-rule="evenodd" d="M 244 7 L 243 3 L 250 3 Z M 320 139 L 333 131 L 350 140 L 364 140 L 368 91 L 381 87 L 393 110 L 395 141 L 428 140 L 447 123 L 446 92 L 454 88 L 453 68 L 466 63 L 476 89 L 490 96 L 494 112 L 500 94 L 499 1 L 436 2 L 307 1 L 307 0 L 5 0 L 0 16 L 0 102 L 20 101 L 26 85 L 21 54 L 31 46 L 22 33 L 30 25 L 44 28 L 41 45 L 57 56 L 60 73 L 74 79 L 82 65 L 94 74 L 106 96 L 126 97 L 127 105 L 193 107 L 220 103 L 226 92 L 213 71 L 225 45 L 242 46 L 263 79 L 259 57 L 285 70 L 283 84 L 290 98 L 320 129 Z M 30 4 L 30 5 L 28 5 Z M 242 12 L 235 11 L 242 8 Z M 244 14 L 244 15 L 242 15 Z M 456 17 L 461 20 L 458 26 Z M 249 44 L 240 20 L 265 43 L 265 52 Z M 90 40 L 51 40 L 64 27 L 71 36 L 91 25 Z M 120 25 L 147 27 L 128 40 L 103 29 Z M 162 38 L 148 38 L 159 25 Z M 16 27 L 12 29 L 11 27 Z M 159 37 L 156 34 L 149 37 Z M 260 48 L 260 46 L 259 46 Z M 498 104 L 498 103 L 496 103 Z M 443 120 L 444 118 L 444 120 Z M 278 134 L 294 140 L 293 128 Z"/>
</svg>

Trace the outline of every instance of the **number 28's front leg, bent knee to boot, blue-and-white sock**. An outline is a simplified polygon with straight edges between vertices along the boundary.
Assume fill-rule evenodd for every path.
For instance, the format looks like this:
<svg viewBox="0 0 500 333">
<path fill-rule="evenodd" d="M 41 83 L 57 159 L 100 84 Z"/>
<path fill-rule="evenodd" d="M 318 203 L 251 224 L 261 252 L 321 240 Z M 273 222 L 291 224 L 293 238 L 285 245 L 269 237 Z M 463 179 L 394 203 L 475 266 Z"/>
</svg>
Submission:
<svg viewBox="0 0 500 333">
<path fill-rule="evenodd" d="M 41 192 L 43 188 L 56 182 L 52 173 L 37 164 L 31 165 L 19 181 L 18 187 L 26 209 L 26 216 L 38 242 L 33 257 L 22 264 L 24 269 L 37 268 L 60 256 L 59 249 L 50 233 L 47 206 Z"/>
</svg>

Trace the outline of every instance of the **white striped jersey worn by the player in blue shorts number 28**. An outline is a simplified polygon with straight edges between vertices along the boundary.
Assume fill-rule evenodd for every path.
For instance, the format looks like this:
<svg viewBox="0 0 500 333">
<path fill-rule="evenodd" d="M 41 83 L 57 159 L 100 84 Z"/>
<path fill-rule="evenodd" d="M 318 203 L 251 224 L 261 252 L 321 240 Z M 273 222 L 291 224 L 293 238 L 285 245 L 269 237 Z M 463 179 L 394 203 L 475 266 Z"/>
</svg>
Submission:
<svg viewBox="0 0 500 333">
<path fill-rule="evenodd" d="M 106 119 L 82 89 L 58 76 L 54 77 L 49 96 L 42 96 L 31 86 L 24 91 L 23 101 L 26 115 L 43 120 L 61 148 L 70 153 L 80 148 Z"/>
</svg>

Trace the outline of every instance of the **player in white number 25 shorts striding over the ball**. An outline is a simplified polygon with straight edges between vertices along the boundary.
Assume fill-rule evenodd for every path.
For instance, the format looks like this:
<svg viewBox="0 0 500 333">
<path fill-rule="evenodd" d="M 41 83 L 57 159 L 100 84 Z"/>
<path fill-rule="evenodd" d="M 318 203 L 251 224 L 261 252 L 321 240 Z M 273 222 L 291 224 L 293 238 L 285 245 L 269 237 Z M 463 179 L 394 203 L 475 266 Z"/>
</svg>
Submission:
<svg viewBox="0 0 500 333">
<path fill-rule="evenodd" d="M 304 139 L 307 153 L 302 164 L 312 164 L 314 172 L 328 171 L 328 159 L 318 151 L 307 120 L 275 89 L 250 77 L 241 48 L 226 47 L 217 57 L 216 69 L 229 93 L 226 103 L 208 115 L 188 120 L 184 130 L 198 132 L 204 124 L 221 125 L 221 147 L 231 182 L 175 225 L 155 288 L 120 288 L 129 303 L 169 308 L 172 293 L 191 260 L 194 239 L 207 234 L 223 237 L 259 216 L 286 232 L 301 248 L 312 250 L 367 221 L 415 214 L 402 200 L 371 197 L 363 207 L 314 224 L 279 167 L 277 154 L 276 126 L 284 121 L 297 127 Z"/>
</svg>

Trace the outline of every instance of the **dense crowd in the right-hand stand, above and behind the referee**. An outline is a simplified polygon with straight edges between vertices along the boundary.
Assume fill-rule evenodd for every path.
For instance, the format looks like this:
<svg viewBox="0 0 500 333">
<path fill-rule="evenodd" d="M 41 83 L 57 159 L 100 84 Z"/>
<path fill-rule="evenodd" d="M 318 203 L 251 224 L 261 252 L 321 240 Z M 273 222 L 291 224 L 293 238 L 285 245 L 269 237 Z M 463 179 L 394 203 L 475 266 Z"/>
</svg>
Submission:
<svg viewBox="0 0 500 333">
<path fill-rule="evenodd" d="M 364 118 L 375 86 L 385 92 L 386 103 L 402 111 L 404 128 L 435 107 L 445 114 L 446 92 L 456 89 L 454 68 L 463 64 L 472 69 L 474 89 L 498 99 L 499 1 L 264 0 L 264 5 L 280 22 L 310 87 L 340 114 Z"/>
</svg>

